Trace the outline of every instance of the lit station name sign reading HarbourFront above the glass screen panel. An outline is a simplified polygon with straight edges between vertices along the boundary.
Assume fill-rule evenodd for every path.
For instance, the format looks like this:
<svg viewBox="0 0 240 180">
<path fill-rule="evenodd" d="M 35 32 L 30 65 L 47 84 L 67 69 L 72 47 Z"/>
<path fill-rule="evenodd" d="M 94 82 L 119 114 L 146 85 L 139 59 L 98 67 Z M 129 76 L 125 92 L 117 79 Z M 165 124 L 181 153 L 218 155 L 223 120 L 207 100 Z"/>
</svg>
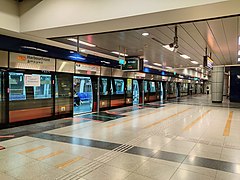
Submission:
<svg viewBox="0 0 240 180">
<path fill-rule="evenodd" d="M 55 71 L 55 59 L 20 53 L 10 53 L 10 67 Z"/>
</svg>

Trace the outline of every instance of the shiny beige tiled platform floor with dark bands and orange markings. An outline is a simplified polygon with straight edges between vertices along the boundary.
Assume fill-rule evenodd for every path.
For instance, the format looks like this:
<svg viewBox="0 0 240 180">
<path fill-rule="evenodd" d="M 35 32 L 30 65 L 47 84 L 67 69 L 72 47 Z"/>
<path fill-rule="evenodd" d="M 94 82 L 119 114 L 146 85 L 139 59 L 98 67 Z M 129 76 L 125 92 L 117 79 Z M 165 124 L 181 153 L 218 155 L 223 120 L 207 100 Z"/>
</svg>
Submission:
<svg viewBox="0 0 240 180">
<path fill-rule="evenodd" d="M 207 95 L 4 129 L 0 136 L 1 180 L 240 179 L 240 104 L 212 104 Z"/>
</svg>

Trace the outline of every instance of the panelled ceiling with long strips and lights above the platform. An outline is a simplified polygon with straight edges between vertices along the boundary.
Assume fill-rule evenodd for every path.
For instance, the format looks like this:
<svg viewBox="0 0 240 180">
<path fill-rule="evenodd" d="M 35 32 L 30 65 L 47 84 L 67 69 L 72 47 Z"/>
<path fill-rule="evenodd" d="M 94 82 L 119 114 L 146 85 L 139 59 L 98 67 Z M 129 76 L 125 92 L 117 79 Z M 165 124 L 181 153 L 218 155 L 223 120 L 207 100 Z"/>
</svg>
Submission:
<svg viewBox="0 0 240 180">
<path fill-rule="evenodd" d="M 124 52 L 126 49 L 129 56 L 144 56 L 151 63 L 157 62 L 174 68 L 197 66 L 190 60 L 180 57 L 179 53 L 186 54 L 191 60 L 202 64 L 206 47 L 208 55 L 211 53 L 214 65 L 237 64 L 237 52 L 240 50 L 239 16 L 180 23 L 177 26 L 179 41 L 177 53 L 162 47 L 173 42 L 175 25 L 85 35 L 80 36 L 80 40 L 95 44 L 97 47 L 91 50 L 97 52 L 111 54 L 111 51 L 120 49 Z M 141 35 L 143 32 L 148 32 L 150 35 L 144 37 Z M 56 40 L 70 43 L 66 38 Z"/>
</svg>

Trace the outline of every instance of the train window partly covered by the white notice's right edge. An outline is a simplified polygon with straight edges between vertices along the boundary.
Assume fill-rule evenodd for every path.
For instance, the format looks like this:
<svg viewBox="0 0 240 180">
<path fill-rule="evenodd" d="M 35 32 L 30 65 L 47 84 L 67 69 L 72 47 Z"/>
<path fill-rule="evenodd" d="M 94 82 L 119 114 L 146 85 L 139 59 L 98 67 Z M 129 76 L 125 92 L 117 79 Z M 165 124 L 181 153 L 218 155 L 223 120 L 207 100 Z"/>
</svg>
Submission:
<svg viewBox="0 0 240 180">
<path fill-rule="evenodd" d="M 34 99 L 52 97 L 51 75 L 40 75 L 40 86 L 34 86 Z"/>
</svg>

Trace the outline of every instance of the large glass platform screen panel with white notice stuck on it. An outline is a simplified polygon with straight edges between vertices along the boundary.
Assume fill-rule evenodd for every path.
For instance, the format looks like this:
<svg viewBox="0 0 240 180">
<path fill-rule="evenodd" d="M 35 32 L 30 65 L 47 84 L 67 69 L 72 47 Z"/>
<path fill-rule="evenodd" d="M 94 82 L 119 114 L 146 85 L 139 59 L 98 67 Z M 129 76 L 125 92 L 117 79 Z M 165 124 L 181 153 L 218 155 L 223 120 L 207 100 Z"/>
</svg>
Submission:
<svg viewBox="0 0 240 180">
<path fill-rule="evenodd" d="M 53 115 L 50 74 L 9 72 L 9 122 Z"/>
</svg>

